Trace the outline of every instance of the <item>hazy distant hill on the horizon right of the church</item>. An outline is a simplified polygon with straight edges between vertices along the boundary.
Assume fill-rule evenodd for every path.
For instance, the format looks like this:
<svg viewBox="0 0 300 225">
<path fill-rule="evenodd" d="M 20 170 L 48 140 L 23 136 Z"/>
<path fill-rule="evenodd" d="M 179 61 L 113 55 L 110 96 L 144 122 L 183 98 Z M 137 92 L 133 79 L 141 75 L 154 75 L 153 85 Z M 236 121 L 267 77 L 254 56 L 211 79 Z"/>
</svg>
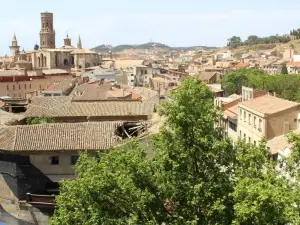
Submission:
<svg viewBox="0 0 300 225">
<path fill-rule="evenodd" d="M 140 45 L 118 45 L 118 46 L 111 46 L 111 45 L 99 45 L 97 47 L 92 48 L 93 51 L 96 52 L 106 52 L 112 51 L 116 52 L 123 52 L 124 50 L 129 49 L 136 49 L 136 50 L 158 50 L 158 51 L 197 51 L 197 50 L 213 50 L 216 47 L 207 47 L 207 46 L 190 46 L 190 47 L 170 47 L 165 44 L 149 42 Z"/>
</svg>

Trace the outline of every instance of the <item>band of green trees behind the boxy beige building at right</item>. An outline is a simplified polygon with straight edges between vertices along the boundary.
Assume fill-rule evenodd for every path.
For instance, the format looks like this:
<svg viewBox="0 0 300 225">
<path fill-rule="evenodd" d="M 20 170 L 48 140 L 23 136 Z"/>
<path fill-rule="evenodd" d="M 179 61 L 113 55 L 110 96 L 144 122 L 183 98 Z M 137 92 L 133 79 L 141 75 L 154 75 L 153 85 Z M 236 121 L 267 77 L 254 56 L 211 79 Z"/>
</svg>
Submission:
<svg viewBox="0 0 300 225">
<path fill-rule="evenodd" d="M 280 97 L 300 102 L 300 75 L 268 75 L 262 70 L 239 69 L 229 73 L 222 80 L 228 94 L 241 94 L 242 86 L 276 92 Z"/>
</svg>

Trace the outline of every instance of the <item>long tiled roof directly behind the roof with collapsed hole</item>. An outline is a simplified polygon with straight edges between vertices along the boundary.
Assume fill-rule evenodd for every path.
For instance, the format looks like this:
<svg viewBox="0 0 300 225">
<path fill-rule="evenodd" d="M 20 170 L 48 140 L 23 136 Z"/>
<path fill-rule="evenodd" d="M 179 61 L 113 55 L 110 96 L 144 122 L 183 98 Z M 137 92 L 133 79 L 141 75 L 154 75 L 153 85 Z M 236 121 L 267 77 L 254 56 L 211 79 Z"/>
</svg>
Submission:
<svg viewBox="0 0 300 225">
<path fill-rule="evenodd" d="M 74 102 L 70 96 L 34 97 L 26 117 L 142 116 L 151 115 L 154 103 L 139 101 Z"/>
</svg>

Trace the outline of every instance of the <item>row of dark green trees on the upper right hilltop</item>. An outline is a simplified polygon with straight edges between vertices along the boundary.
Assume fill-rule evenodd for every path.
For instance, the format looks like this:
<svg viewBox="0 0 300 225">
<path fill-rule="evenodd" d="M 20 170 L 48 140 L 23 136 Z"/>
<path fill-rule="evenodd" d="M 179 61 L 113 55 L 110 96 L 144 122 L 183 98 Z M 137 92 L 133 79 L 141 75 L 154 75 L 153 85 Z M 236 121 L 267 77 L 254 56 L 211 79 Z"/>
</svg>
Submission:
<svg viewBox="0 0 300 225">
<path fill-rule="evenodd" d="M 273 35 L 268 37 L 258 37 L 256 35 L 251 35 L 247 40 L 242 41 L 240 37 L 233 36 L 228 39 L 228 46 L 236 48 L 238 46 L 252 46 L 258 44 L 274 44 L 274 43 L 287 43 L 290 41 L 288 35 Z"/>
</svg>

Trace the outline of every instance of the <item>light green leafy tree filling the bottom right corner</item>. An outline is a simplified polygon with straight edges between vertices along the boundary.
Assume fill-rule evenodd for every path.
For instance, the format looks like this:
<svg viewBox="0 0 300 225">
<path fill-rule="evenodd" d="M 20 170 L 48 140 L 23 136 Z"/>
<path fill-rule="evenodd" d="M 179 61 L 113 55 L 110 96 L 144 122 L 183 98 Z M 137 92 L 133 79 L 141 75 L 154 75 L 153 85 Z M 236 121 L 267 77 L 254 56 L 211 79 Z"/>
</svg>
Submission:
<svg viewBox="0 0 300 225">
<path fill-rule="evenodd" d="M 233 224 L 299 223 L 298 184 L 278 176 L 275 167 L 264 143 L 259 147 L 238 144 Z"/>
</svg>

